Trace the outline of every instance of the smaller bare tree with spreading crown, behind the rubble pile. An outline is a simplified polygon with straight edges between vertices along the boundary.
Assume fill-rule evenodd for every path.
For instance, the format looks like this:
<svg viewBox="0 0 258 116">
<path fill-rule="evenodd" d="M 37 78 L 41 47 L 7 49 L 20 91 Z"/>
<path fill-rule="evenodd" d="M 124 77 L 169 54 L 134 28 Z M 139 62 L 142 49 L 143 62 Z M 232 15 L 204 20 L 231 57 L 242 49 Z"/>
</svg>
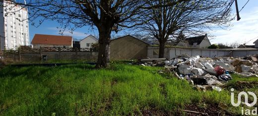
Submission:
<svg viewBox="0 0 258 116">
<path fill-rule="evenodd" d="M 156 0 L 148 2 L 164 5 L 151 9 L 151 14 L 142 20 L 148 20 L 136 29 L 152 35 L 159 41 L 159 58 L 164 57 L 165 43 L 180 32 L 186 34 L 205 33 L 204 29 L 227 27 L 232 20 L 230 4 L 234 0 L 187 0 L 166 6 L 171 1 Z"/>
</svg>

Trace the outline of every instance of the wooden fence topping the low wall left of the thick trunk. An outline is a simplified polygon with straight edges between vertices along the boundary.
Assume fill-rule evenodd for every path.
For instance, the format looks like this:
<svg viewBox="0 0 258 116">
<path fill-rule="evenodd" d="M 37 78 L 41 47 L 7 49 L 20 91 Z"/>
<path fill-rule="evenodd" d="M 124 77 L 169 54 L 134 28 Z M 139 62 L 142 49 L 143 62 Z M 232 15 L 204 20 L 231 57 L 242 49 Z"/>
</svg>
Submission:
<svg viewBox="0 0 258 116">
<path fill-rule="evenodd" d="M 0 52 L 1 55 L 19 55 L 19 54 L 40 54 L 42 52 L 98 52 L 97 49 L 93 48 L 53 48 L 53 47 L 41 47 L 40 49 L 24 49 L 19 48 L 18 51 L 3 50 Z"/>
</svg>

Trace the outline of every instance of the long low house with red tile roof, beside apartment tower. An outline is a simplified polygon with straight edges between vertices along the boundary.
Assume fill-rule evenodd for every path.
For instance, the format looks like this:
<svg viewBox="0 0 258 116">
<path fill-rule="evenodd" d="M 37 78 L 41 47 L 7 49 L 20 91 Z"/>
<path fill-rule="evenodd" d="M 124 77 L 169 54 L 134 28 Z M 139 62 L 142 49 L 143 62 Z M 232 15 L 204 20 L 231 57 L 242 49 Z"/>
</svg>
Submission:
<svg viewBox="0 0 258 116">
<path fill-rule="evenodd" d="M 35 34 L 31 44 L 35 49 L 40 47 L 72 48 L 72 37 Z"/>
</svg>

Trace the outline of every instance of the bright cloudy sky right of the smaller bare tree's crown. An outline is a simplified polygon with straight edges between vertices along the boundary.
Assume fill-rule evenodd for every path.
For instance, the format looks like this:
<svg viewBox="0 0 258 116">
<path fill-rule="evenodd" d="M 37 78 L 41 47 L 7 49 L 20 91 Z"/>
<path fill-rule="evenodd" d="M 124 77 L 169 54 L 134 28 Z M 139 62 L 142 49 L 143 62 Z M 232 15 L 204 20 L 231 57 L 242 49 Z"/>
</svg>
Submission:
<svg viewBox="0 0 258 116">
<path fill-rule="evenodd" d="M 237 0 L 239 10 L 248 0 Z M 235 3 L 232 5 L 232 14 L 236 15 Z M 233 20 L 232 27 L 225 29 L 217 28 L 210 31 L 209 34 L 214 35 L 211 44 L 230 44 L 239 43 L 254 45 L 258 39 L 258 0 L 249 0 L 246 6 L 240 11 L 241 19 Z"/>
</svg>

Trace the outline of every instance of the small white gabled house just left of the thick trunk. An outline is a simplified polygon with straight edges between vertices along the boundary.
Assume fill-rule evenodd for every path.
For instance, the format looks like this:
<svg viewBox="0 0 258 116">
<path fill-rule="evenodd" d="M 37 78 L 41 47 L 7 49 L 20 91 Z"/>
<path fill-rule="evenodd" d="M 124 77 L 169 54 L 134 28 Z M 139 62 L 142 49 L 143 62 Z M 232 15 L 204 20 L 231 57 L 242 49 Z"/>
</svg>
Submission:
<svg viewBox="0 0 258 116">
<path fill-rule="evenodd" d="M 98 43 L 98 40 L 94 36 L 90 35 L 80 41 L 80 48 L 91 48 L 91 45 L 95 43 Z M 88 47 L 87 44 L 89 44 Z"/>
</svg>

